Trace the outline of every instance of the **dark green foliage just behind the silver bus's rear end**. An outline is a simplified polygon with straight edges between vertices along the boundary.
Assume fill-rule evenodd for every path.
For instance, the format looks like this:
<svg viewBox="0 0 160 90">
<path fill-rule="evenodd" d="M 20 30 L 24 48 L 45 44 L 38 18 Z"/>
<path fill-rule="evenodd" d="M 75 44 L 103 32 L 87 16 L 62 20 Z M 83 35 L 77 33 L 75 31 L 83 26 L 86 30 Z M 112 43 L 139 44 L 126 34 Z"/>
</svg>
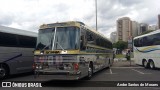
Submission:
<svg viewBox="0 0 160 90">
<path fill-rule="evenodd" d="M 113 47 L 120 50 L 124 50 L 124 49 L 127 49 L 128 43 L 124 41 L 118 41 L 116 43 L 113 43 Z"/>
</svg>

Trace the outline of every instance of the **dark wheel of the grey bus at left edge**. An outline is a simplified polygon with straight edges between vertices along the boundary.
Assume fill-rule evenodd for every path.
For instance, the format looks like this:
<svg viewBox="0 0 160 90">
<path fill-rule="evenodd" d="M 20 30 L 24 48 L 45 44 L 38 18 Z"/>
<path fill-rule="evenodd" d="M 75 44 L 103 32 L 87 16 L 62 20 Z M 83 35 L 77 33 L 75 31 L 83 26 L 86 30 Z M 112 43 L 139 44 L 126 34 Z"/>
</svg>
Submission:
<svg viewBox="0 0 160 90">
<path fill-rule="evenodd" d="M 9 75 L 9 70 L 6 65 L 0 65 L 0 79 L 4 79 Z"/>
</svg>

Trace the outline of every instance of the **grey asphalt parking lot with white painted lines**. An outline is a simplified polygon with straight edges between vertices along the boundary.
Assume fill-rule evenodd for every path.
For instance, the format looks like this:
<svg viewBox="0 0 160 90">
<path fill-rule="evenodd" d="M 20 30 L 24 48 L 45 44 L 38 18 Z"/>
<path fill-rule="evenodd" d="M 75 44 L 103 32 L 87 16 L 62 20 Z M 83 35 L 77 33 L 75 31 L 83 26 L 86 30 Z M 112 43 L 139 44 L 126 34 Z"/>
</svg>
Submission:
<svg viewBox="0 0 160 90">
<path fill-rule="evenodd" d="M 111 68 L 101 70 L 94 74 L 91 80 L 79 81 L 54 81 L 51 77 L 41 77 L 34 79 L 31 73 L 14 75 L 3 81 L 45 81 L 43 88 L 0 88 L 0 90 L 157 90 L 160 89 L 160 70 L 145 69 L 141 66 L 135 65 L 134 62 L 116 61 Z M 159 81 L 159 82 L 156 82 Z M 134 86 L 118 86 L 119 84 L 140 85 L 140 83 L 157 84 L 159 87 L 134 87 Z"/>
</svg>

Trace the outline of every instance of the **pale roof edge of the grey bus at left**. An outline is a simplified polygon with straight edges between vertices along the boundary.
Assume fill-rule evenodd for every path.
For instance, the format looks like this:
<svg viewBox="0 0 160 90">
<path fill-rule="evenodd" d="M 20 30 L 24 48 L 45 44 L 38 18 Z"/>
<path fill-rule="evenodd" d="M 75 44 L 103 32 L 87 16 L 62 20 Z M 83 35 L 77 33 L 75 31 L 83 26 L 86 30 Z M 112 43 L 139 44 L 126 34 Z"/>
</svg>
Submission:
<svg viewBox="0 0 160 90">
<path fill-rule="evenodd" d="M 36 32 L 20 30 L 20 29 L 15 29 L 15 28 L 11 28 L 11 27 L 5 27 L 5 26 L 0 26 L 0 32 L 17 34 L 17 35 L 24 35 L 24 36 L 32 36 L 32 37 L 38 36 L 38 33 L 36 33 Z"/>
</svg>

